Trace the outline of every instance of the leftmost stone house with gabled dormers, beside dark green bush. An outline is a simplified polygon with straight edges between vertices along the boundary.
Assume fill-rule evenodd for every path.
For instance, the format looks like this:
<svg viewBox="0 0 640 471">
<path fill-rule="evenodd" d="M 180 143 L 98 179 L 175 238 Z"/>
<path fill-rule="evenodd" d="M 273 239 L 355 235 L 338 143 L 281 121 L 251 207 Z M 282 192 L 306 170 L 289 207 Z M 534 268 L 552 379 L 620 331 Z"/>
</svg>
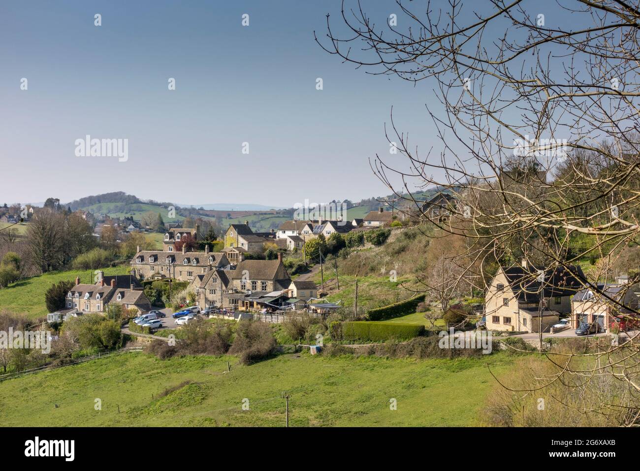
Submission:
<svg viewBox="0 0 640 471">
<path fill-rule="evenodd" d="M 103 272 L 98 272 L 94 285 L 80 283 L 76 278 L 76 286 L 69 290 L 66 300 L 67 309 L 76 308 L 84 313 L 106 313 L 109 304 L 113 303 L 140 312 L 151 309 L 151 303 L 134 275 L 104 276 Z"/>
</svg>

